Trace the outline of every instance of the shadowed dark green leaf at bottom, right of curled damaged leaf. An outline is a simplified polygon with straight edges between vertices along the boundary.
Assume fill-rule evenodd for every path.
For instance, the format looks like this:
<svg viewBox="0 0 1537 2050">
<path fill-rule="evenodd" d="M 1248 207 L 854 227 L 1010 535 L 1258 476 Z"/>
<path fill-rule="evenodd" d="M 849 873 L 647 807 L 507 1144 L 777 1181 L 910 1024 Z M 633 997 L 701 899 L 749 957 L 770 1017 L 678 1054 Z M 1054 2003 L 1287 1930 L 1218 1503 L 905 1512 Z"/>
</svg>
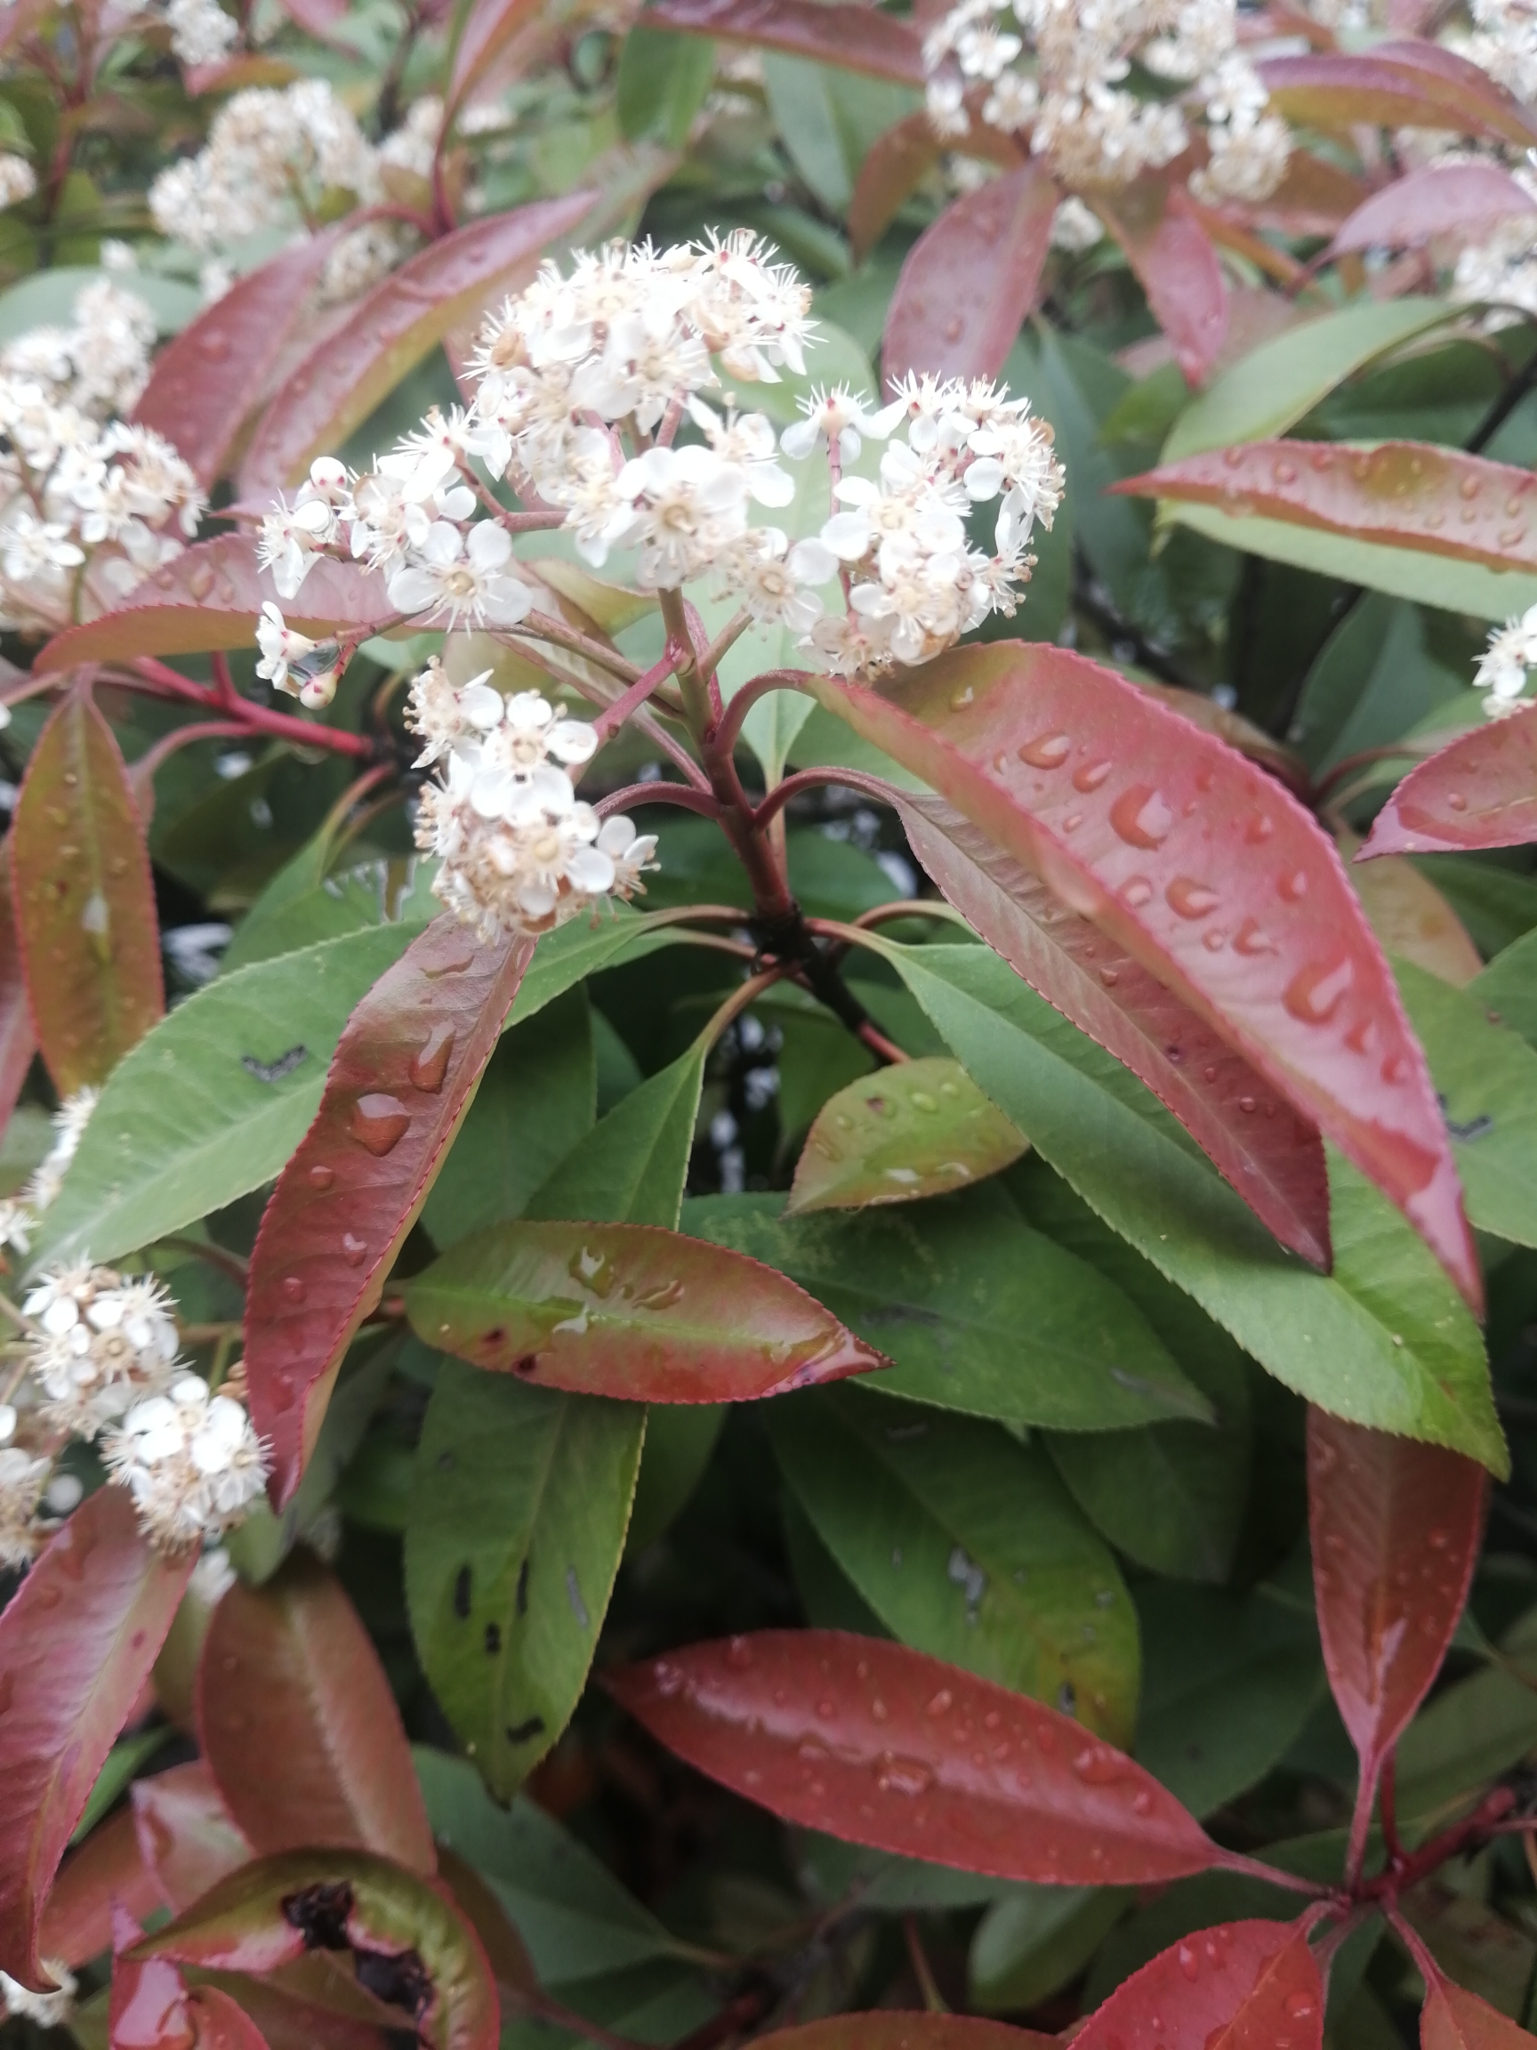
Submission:
<svg viewBox="0 0 1537 2050">
<path fill-rule="evenodd" d="M 492 1886 L 549 1986 L 668 1958 L 672 1937 L 580 1839 L 529 1800 L 498 1808 L 471 1765 L 418 1749 L 432 1835 Z"/>
</svg>

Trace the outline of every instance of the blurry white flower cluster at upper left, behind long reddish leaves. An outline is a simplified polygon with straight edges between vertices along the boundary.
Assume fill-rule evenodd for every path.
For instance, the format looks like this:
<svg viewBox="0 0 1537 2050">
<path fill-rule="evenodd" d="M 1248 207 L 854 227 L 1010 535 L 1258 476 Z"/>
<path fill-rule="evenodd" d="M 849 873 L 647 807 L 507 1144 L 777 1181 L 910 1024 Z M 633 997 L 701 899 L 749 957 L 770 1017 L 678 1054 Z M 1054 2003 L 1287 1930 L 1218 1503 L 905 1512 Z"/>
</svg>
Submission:
<svg viewBox="0 0 1537 2050">
<path fill-rule="evenodd" d="M 213 0 L 170 0 L 219 12 Z M 227 18 L 227 16 L 225 16 Z M 232 23 L 234 27 L 234 23 Z M 416 100 L 402 127 L 371 144 L 324 78 L 252 86 L 219 111 L 197 156 L 170 164 L 150 187 L 150 213 L 164 236 L 209 258 L 205 295 L 234 283 L 223 252 L 273 228 L 309 228 L 338 193 L 371 205 L 406 178 L 424 180 L 443 127 L 443 102 Z M 400 221 L 367 221 L 342 236 L 326 260 L 322 299 L 352 299 L 414 246 Z"/>
</svg>

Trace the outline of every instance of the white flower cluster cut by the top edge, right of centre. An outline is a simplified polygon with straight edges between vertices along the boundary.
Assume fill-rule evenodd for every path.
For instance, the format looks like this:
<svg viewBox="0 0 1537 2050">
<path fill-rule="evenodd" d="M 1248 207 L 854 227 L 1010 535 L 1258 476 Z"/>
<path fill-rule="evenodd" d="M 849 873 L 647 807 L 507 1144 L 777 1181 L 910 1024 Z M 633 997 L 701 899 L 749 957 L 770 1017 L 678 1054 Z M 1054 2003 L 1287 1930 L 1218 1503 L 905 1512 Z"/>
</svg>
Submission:
<svg viewBox="0 0 1537 2050">
<path fill-rule="evenodd" d="M 1238 53 L 1236 0 L 959 0 L 928 33 L 928 117 L 961 137 L 978 115 L 1031 133 L 1070 187 L 1123 187 L 1191 144 L 1178 100 L 1139 96 L 1131 64 L 1189 84 L 1209 160 L 1191 180 L 1207 201 L 1266 199 L 1285 176 L 1291 133 L 1269 113 Z"/>
</svg>

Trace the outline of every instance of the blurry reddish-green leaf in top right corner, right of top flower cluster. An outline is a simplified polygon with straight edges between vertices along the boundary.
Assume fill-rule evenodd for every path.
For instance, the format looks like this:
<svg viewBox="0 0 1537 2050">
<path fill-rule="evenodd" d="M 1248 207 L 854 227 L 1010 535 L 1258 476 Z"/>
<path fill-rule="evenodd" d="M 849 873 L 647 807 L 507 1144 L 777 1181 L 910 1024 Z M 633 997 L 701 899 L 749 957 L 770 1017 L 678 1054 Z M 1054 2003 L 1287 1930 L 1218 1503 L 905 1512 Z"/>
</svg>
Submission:
<svg viewBox="0 0 1537 2050">
<path fill-rule="evenodd" d="M 1305 127 L 1451 129 L 1529 150 L 1537 123 L 1488 72 L 1435 43 L 1377 43 L 1371 53 L 1269 57 L 1271 105 Z"/>
</svg>

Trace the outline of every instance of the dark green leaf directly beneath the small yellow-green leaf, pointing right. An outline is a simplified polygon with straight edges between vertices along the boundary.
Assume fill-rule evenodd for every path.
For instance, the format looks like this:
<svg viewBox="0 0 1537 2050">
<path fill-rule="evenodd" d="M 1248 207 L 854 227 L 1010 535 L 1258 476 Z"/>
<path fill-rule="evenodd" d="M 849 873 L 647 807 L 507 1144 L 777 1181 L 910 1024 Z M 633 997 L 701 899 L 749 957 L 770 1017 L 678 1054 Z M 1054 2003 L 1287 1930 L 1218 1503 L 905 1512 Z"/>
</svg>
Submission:
<svg viewBox="0 0 1537 2050">
<path fill-rule="evenodd" d="M 877 1345 L 896 1361 L 883 1394 L 1062 1431 L 1207 1414 L 1119 1289 L 998 1189 L 912 1212 L 777 1212 L 773 1195 L 701 1197 L 682 1226 L 779 1267 Z"/>
</svg>

